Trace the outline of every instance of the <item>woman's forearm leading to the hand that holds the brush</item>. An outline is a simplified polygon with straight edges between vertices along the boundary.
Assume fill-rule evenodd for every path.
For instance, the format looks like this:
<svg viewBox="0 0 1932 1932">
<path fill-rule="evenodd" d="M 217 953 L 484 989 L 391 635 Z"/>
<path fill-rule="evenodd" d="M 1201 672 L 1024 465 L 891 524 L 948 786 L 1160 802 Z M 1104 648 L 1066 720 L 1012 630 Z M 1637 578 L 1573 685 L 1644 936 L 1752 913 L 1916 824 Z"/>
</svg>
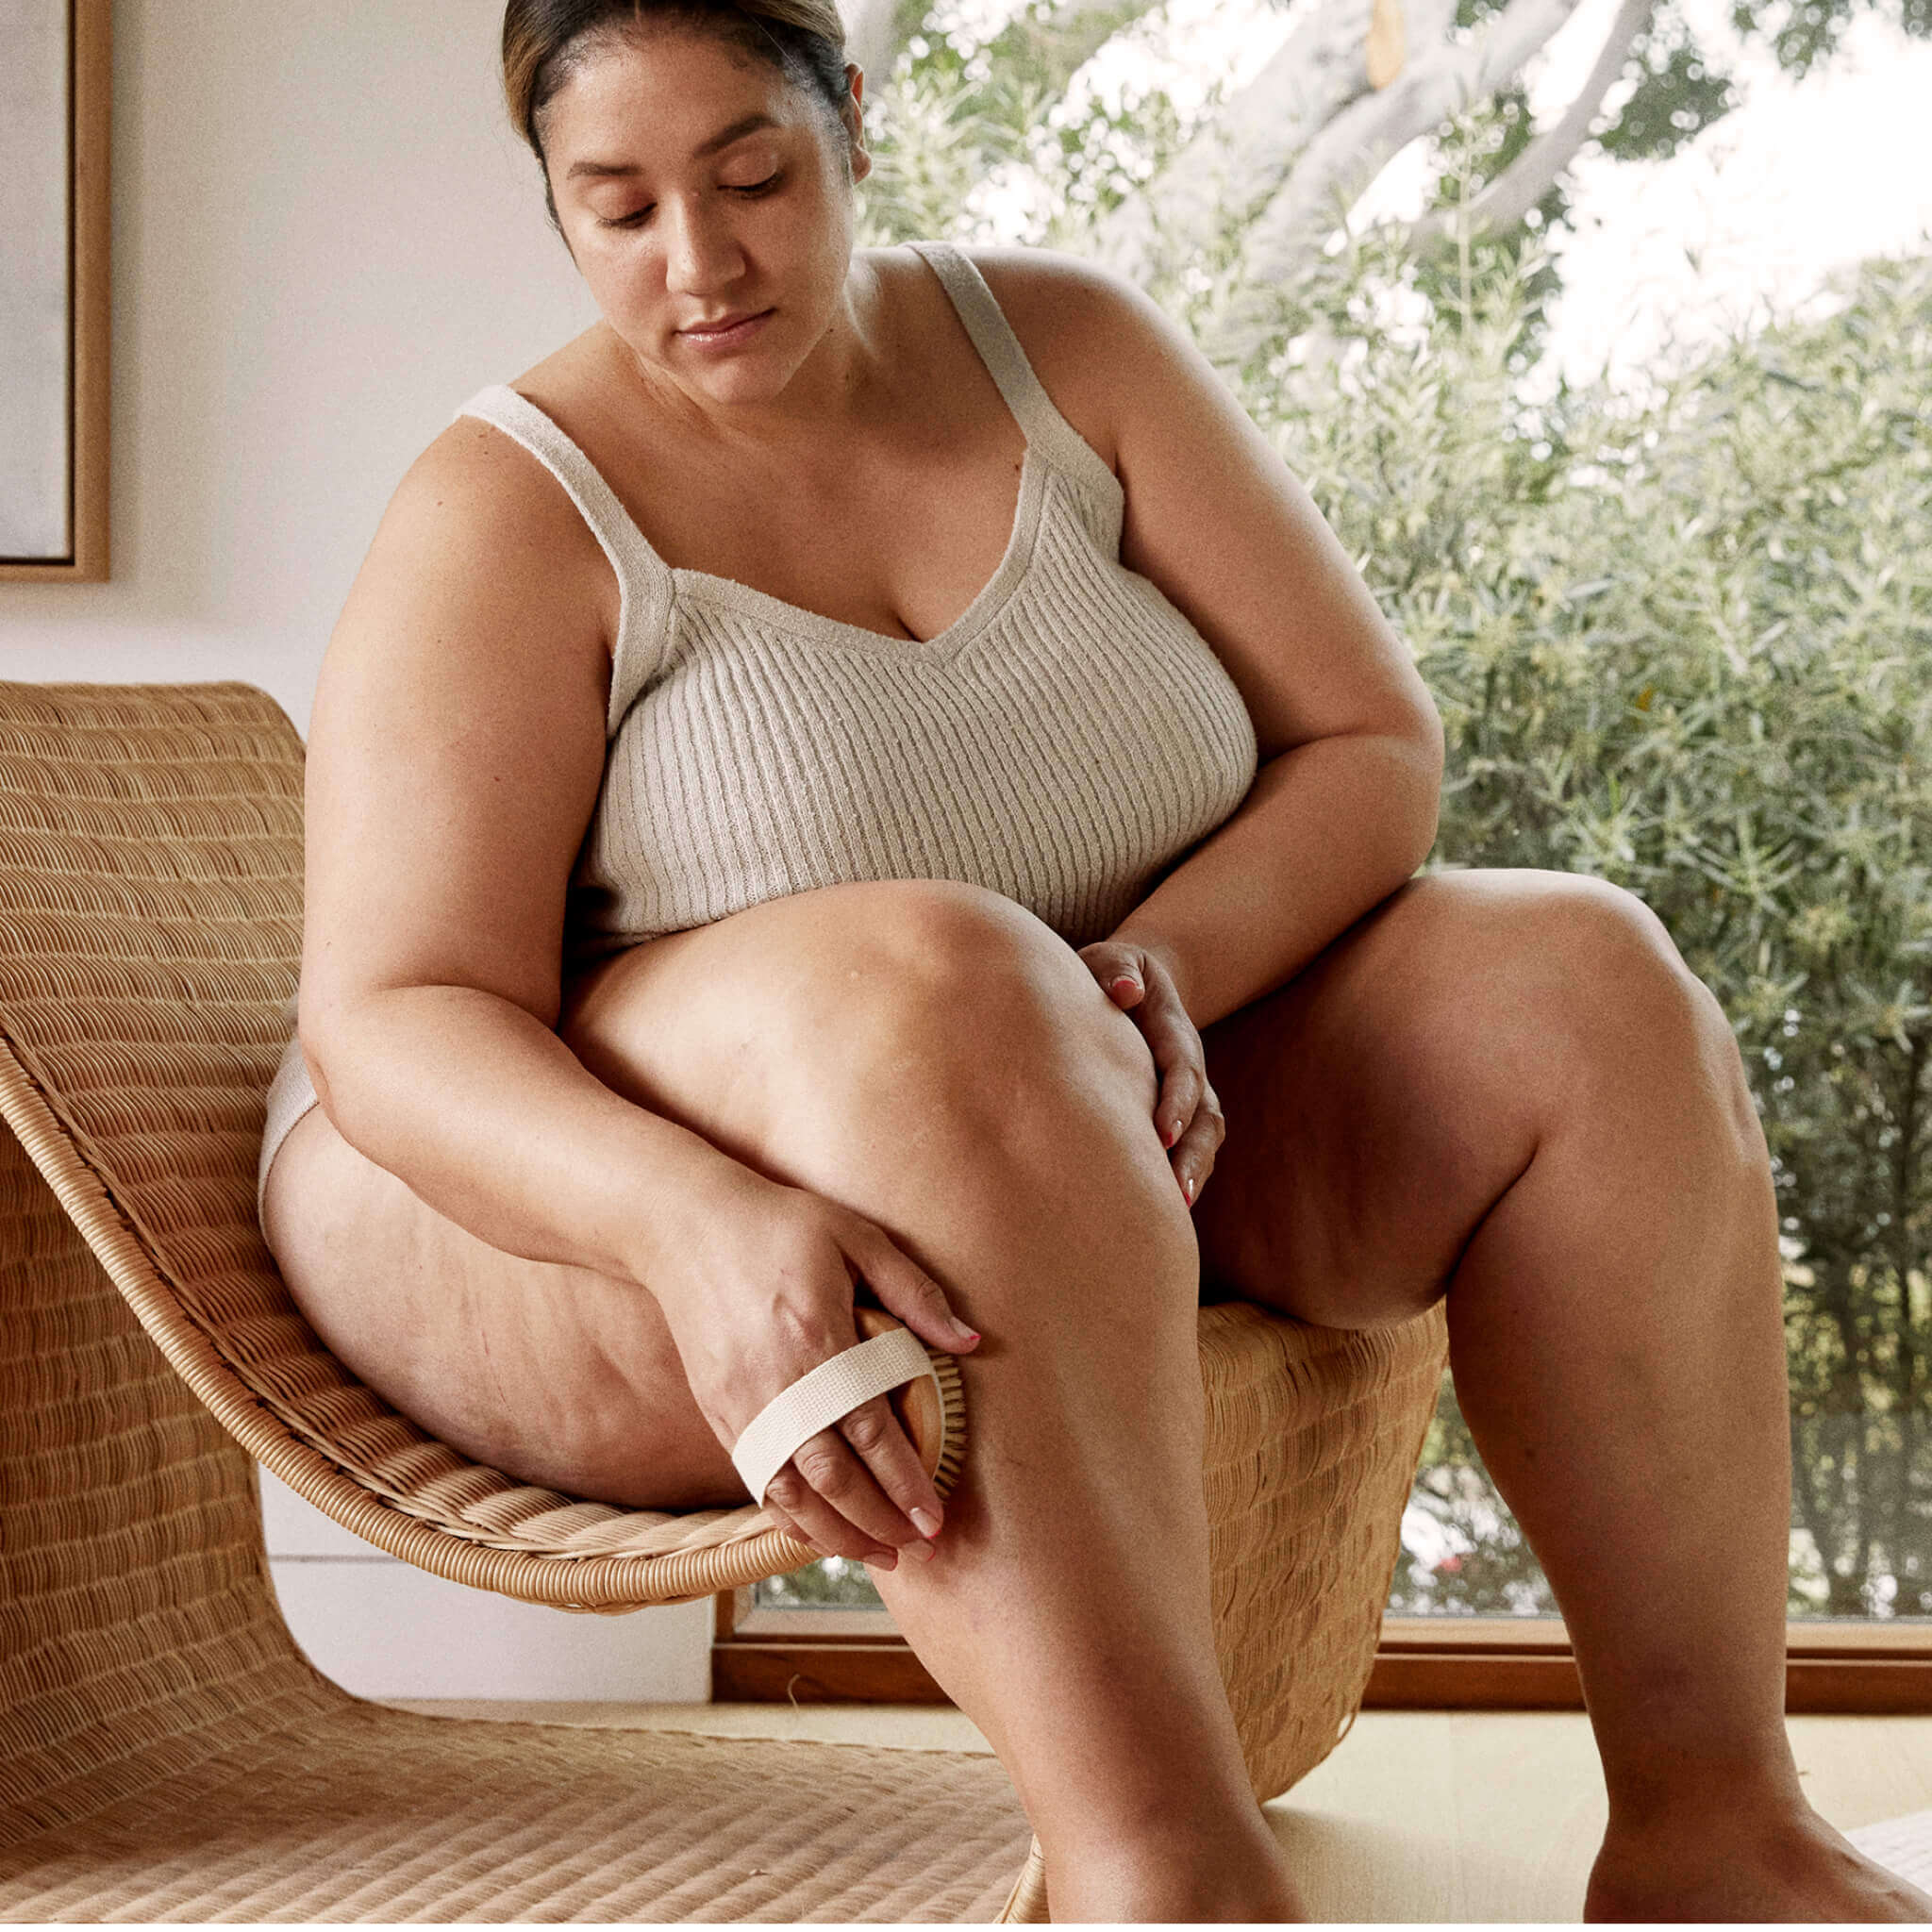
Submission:
<svg viewBox="0 0 1932 1932">
<path fill-rule="evenodd" d="M 402 987 L 334 1010 L 303 1043 L 352 1148 L 493 1248 L 645 1281 L 701 1184 L 748 1175 L 632 1105 L 508 999 Z"/>
</svg>

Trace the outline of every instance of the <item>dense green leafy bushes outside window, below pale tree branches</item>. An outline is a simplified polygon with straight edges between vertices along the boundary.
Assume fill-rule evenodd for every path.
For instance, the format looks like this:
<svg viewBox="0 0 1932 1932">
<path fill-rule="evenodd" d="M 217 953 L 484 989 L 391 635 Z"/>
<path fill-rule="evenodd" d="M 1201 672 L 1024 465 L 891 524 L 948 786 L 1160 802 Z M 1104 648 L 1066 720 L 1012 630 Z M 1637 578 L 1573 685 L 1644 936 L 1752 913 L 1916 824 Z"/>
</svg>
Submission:
<svg viewBox="0 0 1932 1932">
<path fill-rule="evenodd" d="M 1420 332 L 1370 269 L 1335 265 L 1327 396 L 1242 400 L 1443 713 L 1430 864 L 1625 885 L 1714 989 L 1783 1225 L 1791 1609 L 1932 1615 L 1932 255 L 1544 408 L 1534 255 L 1476 249 Z M 1397 1604 L 1553 1607 L 1453 1395 L 1426 1464 L 1457 1548 Z"/>
</svg>

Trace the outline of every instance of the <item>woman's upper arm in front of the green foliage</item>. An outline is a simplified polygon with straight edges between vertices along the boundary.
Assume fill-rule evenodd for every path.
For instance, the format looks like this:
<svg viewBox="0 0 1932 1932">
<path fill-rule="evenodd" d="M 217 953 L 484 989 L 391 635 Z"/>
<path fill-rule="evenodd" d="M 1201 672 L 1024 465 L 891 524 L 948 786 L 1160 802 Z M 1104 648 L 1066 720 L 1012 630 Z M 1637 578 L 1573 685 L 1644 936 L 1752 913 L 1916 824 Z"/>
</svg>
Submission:
<svg viewBox="0 0 1932 1932">
<path fill-rule="evenodd" d="M 1414 736 L 1439 759 L 1441 723 L 1408 649 L 1186 330 L 1111 270 L 1034 255 L 1026 269 L 1024 251 L 1007 257 L 999 299 L 1010 288 L 1041 381 L 1121 477 L 1121 562 L 1213 647 L 1262 759 L 1343 732 Z"/>
</svg>

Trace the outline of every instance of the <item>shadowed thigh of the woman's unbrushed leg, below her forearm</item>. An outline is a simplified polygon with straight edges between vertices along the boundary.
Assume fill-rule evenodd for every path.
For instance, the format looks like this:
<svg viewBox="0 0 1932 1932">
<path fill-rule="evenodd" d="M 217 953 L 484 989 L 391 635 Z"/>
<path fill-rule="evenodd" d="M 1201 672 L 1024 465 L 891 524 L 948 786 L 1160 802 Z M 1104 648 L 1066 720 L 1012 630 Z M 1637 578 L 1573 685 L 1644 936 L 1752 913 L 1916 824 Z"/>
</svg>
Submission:
<svg viewBox="0 0 1932 1932">
<path fill-rule="evenodd" d="M 1204 1296 L 1327 1327 L 1428 1308 L 1534 1155 L 1565 935 L 1578 910 L 1621 918 L 1613 896 L 1544 871 L 1414 879 L 1209 1026 L 1227 1138 L 1194 1211 Z"/>
</svg>

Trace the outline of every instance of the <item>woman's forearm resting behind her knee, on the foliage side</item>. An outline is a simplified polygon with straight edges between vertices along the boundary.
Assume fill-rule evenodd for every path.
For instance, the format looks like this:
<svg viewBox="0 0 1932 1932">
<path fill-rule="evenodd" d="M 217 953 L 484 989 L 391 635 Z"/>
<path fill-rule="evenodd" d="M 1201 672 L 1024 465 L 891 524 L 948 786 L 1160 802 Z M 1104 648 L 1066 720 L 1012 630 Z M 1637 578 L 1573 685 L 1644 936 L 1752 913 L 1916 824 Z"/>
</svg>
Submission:
<svg viewBox="0 0 1932 1932">
<path fill-rule="evenodd" d="M 1293 978 L 1414 873 L 1435 842 L 1439 792 L 1439 752 L 1416 738 L 1281 752 L 1109 937 L 1159 956 L 1206 1030 Z"/>
</svg>

